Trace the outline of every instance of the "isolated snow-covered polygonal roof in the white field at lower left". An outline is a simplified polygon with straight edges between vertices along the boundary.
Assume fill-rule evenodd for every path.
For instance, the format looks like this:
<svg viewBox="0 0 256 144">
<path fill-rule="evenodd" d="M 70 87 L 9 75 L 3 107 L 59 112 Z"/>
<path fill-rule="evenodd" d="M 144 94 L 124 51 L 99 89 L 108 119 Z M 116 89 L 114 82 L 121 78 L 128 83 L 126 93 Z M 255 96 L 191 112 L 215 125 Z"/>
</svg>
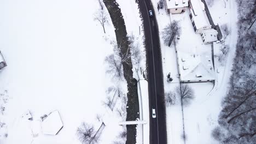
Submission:
<svg viewBox="0 0 256 144">
<path fill-rule="evenodd" d="M 59 111 L 51 112 L 42 122 L 42 130 L 45 135 L 56 135 L 63 127 Z"/>
</svg>

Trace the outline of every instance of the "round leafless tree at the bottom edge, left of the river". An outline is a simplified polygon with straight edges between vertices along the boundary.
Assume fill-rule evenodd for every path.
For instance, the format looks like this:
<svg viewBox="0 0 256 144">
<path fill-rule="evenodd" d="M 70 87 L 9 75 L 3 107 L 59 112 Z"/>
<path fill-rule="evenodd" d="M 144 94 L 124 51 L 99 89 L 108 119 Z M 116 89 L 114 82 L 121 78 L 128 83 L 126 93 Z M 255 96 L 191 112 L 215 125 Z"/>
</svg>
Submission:
<svg viewBox="0 0 256 144">
<path fill-rule="evenodd" d="M 94 135 L 95 129 L 92 125 L 89 125 L 88 123 L 83 122 L 77 129 L 78 139 L 83 144 L 89 144 L 91 141 L 97 141 L 94 140 Z"/>
</svg>

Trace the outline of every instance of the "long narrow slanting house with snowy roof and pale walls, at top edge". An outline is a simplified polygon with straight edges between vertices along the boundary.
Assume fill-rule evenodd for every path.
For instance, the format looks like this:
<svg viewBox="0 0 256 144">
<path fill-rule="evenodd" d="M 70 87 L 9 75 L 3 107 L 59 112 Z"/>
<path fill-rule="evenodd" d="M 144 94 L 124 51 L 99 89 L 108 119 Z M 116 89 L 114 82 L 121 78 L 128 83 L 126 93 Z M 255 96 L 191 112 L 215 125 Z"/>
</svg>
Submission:
<svg viewBox="0 0 256 144">
<path fill-rule="evenodd" d="M 203 30 L 212 28 L 206 16 L 205 5 L 201 0 L 190 0 L 189 10 L 189 17 L 195 33 L 202 33 Z"/>
</svg>

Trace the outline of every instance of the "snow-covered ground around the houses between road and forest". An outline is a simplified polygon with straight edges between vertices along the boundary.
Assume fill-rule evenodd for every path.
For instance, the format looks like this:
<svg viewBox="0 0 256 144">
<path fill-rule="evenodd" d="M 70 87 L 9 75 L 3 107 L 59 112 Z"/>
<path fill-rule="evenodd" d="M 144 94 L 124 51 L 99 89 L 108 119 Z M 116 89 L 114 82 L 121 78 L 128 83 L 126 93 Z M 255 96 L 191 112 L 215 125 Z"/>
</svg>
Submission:
<svg viewBox="0 0 256 144">
<path fill-rule="evenodd" d="M 183 14 L 169 16 L 164 9 L 160 9 L 159 12 L 157 12 L 157 2 L 156 0 L 152 0 L 160 31 L 163 73 L 164 76 L 171 73 L 171 77 L 173 78 L 171 83 L 167 83 L 166 80 L 164 80 L 165 92 L 174 92 L 175 87 L 179 85 L 179 79 L 176 77 L 178 74 L 177 59 L 174 47 L 168 47 L 164 45 L 162 41 L 162 29 L 164 29 L 171 20 L 178 20 L 181 23 L 182 34 L 176 45 L 177 51 L 211 53 L 211 45 L 204 45 L 200 35 L 195 34 L 189 19 L 188 9 Z M 220 104 L 225 95 L 226 87 L 228 86 L 232 59 L 235 56 L 237 37 L 236 2 L 228 1 L 226 8 L 224 8 L 223 1 L 214 1 L 210 12 L 214 23 L 218 23 L 219 25 L 228 23 L 228 26 L 231 28 L 231 34 L 226 39 L 226 44 L 233 47 L 233 49 L 230 50 L 224 64 L 220 64 L 218 59 L 215 59 L 216 85 L 214 87 L 212 83 L 189 83 L 189 86 L 194 89 L 195 99 L 191 101 L 190 105 L 184 106 L 184 124 L 185 134 L 187 136 L 186 143 L 218 143 L 216 140 L 212 139 L 211 130 L 218 125 L 217 120 L 221 108 Z M 218 55 L 221 45 L 216 44 L 214 46 L 214 54 Z M 176 104 L 166 107 L 166 115 L 168 143 L 184 143 L 182 140 L 182 110 L 178 101 L 176 101 Z"/>
</svg>

